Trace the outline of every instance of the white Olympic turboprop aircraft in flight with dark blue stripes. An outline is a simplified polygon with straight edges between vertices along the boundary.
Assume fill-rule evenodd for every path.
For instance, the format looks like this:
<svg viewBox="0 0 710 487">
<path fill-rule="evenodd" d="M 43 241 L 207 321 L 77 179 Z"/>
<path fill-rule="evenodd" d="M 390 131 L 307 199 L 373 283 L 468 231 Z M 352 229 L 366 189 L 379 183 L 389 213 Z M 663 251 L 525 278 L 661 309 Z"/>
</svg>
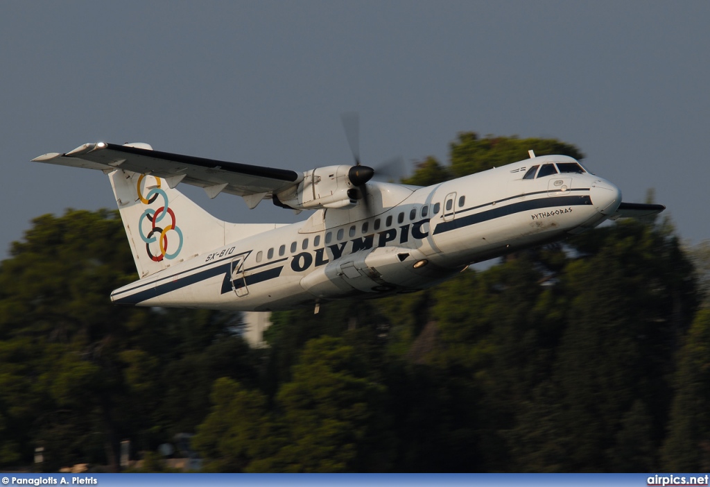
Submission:
<svg viewBox="0 0 710 487">
<path fill-rule="evenodd" d="M 566 155 L 529 155 L 429 187 L 376 182 L 358 155 L 355 165 L 296 173 L 99 142 L 33 161 L 109 176 L 140 276 L 113 302 L 318 312 L 328 300 L 421 290 L 471 263 L 665 209 L 621 202 L 618 187 Z M 295 224 L 228 223 L 179 184 L 241 196 L 251 209 L 271 199 L 315 211 Z"/>
</svg>

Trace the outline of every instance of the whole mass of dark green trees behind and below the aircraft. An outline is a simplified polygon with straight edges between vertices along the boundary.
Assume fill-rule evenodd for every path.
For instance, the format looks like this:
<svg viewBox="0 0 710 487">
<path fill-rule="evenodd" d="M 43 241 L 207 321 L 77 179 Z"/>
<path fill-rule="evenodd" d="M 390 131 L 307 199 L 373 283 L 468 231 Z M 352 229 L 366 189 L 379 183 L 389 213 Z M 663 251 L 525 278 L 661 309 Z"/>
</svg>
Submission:
<svg viewBox="0 0 710 487">
<path fill-rule="evenodd" d="M 429 185 L 576 147 L 461 133 Z M 0 464 L 143 469 L 175 434 L 208 471 L 710 468 L 706 246 L 618 221 L 427 291 L 238 315 L 114 307 L 135 280 L 115 212 L 33 222 L 0 263 Z M 700 311 L 698 311 L 700 309 Z"/>
</svg>

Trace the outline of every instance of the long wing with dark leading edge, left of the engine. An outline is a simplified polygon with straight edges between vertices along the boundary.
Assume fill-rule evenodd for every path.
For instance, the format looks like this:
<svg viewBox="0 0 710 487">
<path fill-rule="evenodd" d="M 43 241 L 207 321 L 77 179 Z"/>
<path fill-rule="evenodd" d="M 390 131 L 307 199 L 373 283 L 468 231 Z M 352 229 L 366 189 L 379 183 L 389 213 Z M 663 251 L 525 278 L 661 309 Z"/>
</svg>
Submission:
<svg viewBox="0 0 710 487">
<path fill-rule="evenodd" d="M 33 161 L 75 168 L 115 169 L 158 176 L 175 187 L 179 182 L 204 188 L 211 198 L 226 192 L 244 197 L 250 208 L 266 195 L 297 185 L 302 174 L 292 170 L 230 163 L 191 155 L 153 151 L 148 144 L 119 146 L 112 143 L 86 143 L 68 153 L 48 153 Z"/>
</svg>

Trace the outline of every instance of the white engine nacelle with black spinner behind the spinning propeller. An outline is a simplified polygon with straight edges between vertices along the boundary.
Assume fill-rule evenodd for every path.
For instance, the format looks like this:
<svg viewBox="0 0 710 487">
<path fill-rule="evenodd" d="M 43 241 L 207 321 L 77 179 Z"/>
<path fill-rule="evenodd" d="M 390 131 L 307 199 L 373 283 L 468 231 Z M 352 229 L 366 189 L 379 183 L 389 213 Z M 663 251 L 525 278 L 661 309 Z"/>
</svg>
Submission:
<svg viewBox="0 0 710 487">
<path fill-rule="evenodd" d="M 279 206 L 293 209 L 352 208 L 358 203 L 357 187 L 374 171 L 364 165 L 329 165 L 303 173 L 303 180 L 274 195 Z"/>
</svg>

